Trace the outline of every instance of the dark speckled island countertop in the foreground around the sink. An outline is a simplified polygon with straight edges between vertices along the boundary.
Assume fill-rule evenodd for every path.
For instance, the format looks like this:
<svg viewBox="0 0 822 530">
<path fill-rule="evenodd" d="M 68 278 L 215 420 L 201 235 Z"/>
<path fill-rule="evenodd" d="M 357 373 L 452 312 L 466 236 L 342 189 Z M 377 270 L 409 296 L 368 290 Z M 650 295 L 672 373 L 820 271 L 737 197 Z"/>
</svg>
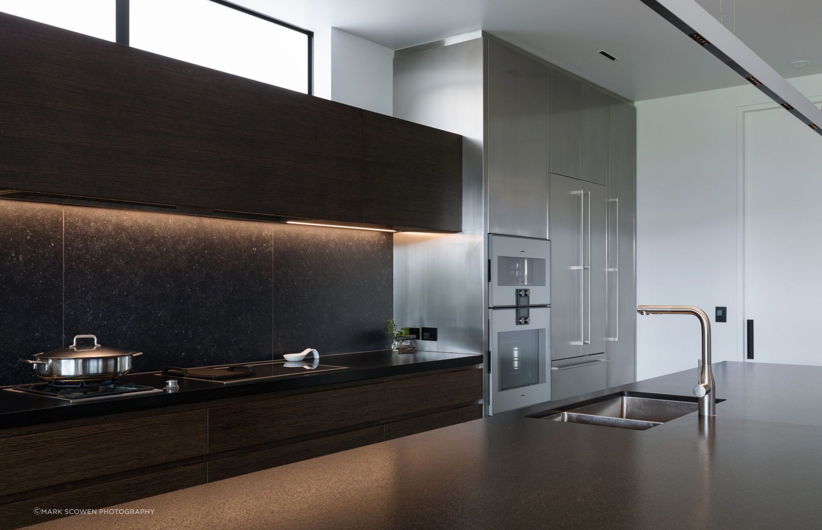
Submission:
<svg viewBox="0 0 822 530">
<path fill-rule="evenodd" d="M 727 401 L 707 426 L 696 413 L 640 431 L 515 411 L 118 506 L 150 515 L 37 528 L 819 528 L 822 367 L 723 362 L 714 375 Z M 586 397 L 688 396 L 695 381 L 687 370 Z"/>
</svg>

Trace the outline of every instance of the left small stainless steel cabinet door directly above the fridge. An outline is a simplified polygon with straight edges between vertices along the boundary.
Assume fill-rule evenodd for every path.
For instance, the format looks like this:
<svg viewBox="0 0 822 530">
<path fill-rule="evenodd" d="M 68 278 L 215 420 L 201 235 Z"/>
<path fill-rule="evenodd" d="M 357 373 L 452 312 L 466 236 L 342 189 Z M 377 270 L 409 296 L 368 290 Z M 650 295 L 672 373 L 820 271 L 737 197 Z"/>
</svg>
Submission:
<svg viewBox="0 0 822 530">
<path fill-rule="evenodd" d="M 580 178 L 582 83 L 551 72 L 551 172 Z"/>
</svg>

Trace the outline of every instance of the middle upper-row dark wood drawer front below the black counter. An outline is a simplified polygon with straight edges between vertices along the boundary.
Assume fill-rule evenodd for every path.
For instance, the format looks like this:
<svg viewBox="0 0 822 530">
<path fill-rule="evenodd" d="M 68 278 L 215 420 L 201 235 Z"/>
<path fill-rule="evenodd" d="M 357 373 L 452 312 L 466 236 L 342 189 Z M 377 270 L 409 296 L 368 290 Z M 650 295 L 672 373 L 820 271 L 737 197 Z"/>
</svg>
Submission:
<svg viewBox="0 0 822 530">
<path fill-rule="evenodd" d="M 209 453 L 380 421 L 383 385 L 209 409 Z"/>
</svg>

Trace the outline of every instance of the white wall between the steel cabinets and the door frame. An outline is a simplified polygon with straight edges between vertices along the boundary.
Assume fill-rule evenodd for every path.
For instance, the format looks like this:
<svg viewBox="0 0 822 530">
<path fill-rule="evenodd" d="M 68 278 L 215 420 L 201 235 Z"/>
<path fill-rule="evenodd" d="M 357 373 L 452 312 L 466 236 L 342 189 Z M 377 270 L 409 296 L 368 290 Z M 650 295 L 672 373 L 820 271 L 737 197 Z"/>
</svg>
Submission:
<svg viewBox="0 0 822 530">
<path fill-rule="evenodd" d="M 822 95 L 822 75 L 789 80 Z M 713 323 L 713 360 L 741 360 L 737 307 L 737 107 L 768 103 L 753 86 L 636 103 L 637 303 L 696 305 Z M 696 366 L 700 326 L 638 316 L 637 379 Z"/>
</svg>

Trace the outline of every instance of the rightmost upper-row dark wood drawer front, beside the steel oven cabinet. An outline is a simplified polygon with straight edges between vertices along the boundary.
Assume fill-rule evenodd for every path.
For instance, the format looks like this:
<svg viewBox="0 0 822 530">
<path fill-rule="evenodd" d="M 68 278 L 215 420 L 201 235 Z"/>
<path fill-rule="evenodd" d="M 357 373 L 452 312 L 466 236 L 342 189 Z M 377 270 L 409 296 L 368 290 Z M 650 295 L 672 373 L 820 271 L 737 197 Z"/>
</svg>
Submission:
<svg viewBox="0 0 822 530">
<path fill-rule="evenodd" d="M 483 398 L 483 370 L 423 375 L 386 383 L 386 418 L 470 403 Z"/>
</svg>

